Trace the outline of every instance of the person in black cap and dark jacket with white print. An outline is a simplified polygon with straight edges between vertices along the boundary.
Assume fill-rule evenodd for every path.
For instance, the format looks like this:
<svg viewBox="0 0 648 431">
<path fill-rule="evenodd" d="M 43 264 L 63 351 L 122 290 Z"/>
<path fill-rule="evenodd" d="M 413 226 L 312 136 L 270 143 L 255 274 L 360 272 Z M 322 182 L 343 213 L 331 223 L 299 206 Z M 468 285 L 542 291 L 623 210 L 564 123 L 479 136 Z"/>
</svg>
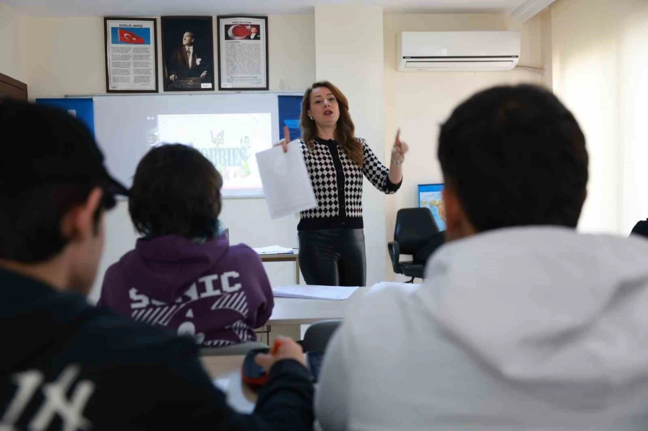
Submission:
<svg viewBox="0 0 648 431">
<path fill-rule="evenodd" d="M 270 380 L 242 415 L 192 340 L 88 305 L 104 211 L 126 189 L 67 113 L 0 100 L 0 130 L 0 429 L 312 430 L 292 340 L 257 357 Z"/>
</svg>

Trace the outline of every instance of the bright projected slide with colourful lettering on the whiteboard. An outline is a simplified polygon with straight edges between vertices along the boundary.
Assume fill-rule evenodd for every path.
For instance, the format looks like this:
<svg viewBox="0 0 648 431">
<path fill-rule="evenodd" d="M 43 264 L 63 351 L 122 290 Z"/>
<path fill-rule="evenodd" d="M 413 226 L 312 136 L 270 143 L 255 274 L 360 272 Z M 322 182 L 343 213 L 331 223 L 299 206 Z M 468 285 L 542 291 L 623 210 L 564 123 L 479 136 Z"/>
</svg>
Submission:
<svg viewBox="0 0 648 431">
<path fill-rule="evenodd" d="M 262 193 L 255 154 L 272 142 L 270 113 L 158 115 L 151 138 L 198 149 L 222 175 L 224 195 Z"/>
</svg>

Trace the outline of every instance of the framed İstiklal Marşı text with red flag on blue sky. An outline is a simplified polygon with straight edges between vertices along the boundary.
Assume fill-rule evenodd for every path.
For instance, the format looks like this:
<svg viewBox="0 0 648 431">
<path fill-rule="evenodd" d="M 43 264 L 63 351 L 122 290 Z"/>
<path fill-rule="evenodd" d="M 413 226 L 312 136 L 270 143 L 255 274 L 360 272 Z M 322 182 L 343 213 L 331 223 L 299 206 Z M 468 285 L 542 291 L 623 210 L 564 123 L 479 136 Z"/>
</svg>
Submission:
<svg viewBox="0 0 648 431">
<path fill-rule="evenodd" d="M 157 93 L 154 18 L 104 18 L 106 92 Z"/>
</svg>

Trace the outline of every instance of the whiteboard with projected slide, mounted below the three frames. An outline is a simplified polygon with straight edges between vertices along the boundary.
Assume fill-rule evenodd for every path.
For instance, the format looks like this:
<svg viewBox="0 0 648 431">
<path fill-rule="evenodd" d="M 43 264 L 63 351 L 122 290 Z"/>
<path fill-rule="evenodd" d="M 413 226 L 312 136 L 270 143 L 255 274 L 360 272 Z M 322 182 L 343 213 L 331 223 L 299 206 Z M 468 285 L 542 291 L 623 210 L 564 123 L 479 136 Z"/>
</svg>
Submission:
<svg viewBox="0 0 648 431">
<path fill-rule="evenodd" d="M 174 124 L 185 124 L 185 131 L 192 130 L 195 124 L 207 123 L 213 127 L 203 130 L 202 137 L 209 133 L 214 142 L 220 139 L 220 145 L 231 147 L 231 144 L 223 144 L 223 133 L 229 133 L 232 137 L 237 131 L 221 131 L 223 124 L 233 124 L 240 118 L 240 124 L 251 124 L 259 122 L 262 130 L 267 126 L 269 137 L 266 133 L 257 133 L 252 140 L 252 146 L 248 144 L 245 151 L 235 148 L 223 149 L 227 157 L 220 157 L 218 160 L 229 160 L 237 166 L 226 166 L 222 171 L 226 186 L 222 195 L 224 197 L 253 197 L 262 196 L 263 190 L 259 187 L 241 186 L 248 179 L 245 177 L 250 170 L 254 174 L 256 151 L 272 147 L 274 142 L 279 141 L 279 108 L 277 96 L 279 95 L 301 95 L 302 92 L 287 93 L 213 93 L 213 94 L 137 94 L 137 95 L 101 95 L 93 96 L 95 110 L 95 137 L 106 157 L 106 165 L 111 174 L 130 187 L 135 174 L 135 168 L 139 160 L 152 148 L 159 145 L 160 138 L 165 135 L 161 127 L 168 124 L 168 118 L 174 119 Z M 246 115 L 244 115 L 246 114 Z M 245 120 L 243 120 L 245 118 Z M 195 137 L 189 137 L 192 140 Z M 261 137 L 262 135 L 262 137 Z M 182 136 L 182 133 L 166 134 L 173 136 L 174 140 Z M 231 140 L 231 139 L 230 139 Z M 235 138 L 238 142 L 238 137 Z M 242 142 L 242 138 L 240 139 Z M 173 142 L 167 142 L 173 143 Z M 180 142 L 185 144 L 186 142 Z M 196 145 L 194 145 L 196 146 Z M 249 148 L 249 147 L 252 148 Z M 196 146 L 198 148 L 198 146 Z M 198 148 L 203 151 L 204 148 Z M 223 152 L 223 151 L 221 151 Z M 207 155 L 206 152 L 203 154 Z M 214 150 L 209 151 L 213 155 Z M 208 157 L 209 158 L 209 157 Z M 242 161 L 242 159 L 245 159 Z M 211 159 L 210 159 L 211 160 Z M 215 159 L 214 159 L 215 160 Z M 233 162 L 231 161 L 233 160 Z M 249 161 L 249 166 L 246 164 Z M 223 162 L 225 163 L 225 162 Z M 245 166 L 238 166 L 240 164 Z M 216 162 L 214 162 L 216 164 Z M 217 166 L 218 168 L 219 166 Z M 219 168 L 222 170 L 222 168 Z M 228 181 L 231 182 L 228 183 Z M 227 184 L 235 184 L 227 187 Z M 245 183 L 248 184 L 248 183 Z M 251 183 L 249 183 L 251 184 Z M 260 184 L 260 183 L 259 183 Z"/>
</svg>

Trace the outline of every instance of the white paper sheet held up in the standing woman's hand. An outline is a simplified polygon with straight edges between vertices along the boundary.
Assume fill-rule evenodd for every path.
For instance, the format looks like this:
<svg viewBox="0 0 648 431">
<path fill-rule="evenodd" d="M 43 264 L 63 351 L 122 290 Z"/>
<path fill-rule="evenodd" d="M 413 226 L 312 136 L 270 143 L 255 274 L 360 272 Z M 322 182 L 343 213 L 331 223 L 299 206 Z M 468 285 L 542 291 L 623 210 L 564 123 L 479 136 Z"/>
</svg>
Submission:
<svg viewBox="0 0 648 431">
<path fill-rule="evenodd" d="M 260 151 L 257 165 L 270 218 L 278 219 L 318 206 L 299 141 L 289 142 L 285 154 L 281 146 Z"/>
</svg>

